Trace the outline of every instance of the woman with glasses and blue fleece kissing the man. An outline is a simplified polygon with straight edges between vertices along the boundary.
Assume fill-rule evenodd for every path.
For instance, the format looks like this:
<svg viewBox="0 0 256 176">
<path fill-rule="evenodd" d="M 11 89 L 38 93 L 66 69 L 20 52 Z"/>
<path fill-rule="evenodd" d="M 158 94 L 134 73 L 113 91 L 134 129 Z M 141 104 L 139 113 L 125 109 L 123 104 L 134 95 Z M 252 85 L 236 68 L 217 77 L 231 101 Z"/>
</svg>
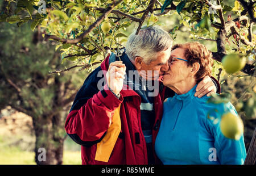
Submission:
<svg viewBox="0 0 256 176">
<path fill-rule="evenodd" d="M 220 131 L 224 112 L 237 116 L 233 105 L 211 104 L 207 103 L 207 96 L 194 96 L 197 83 L 210 76 L 212 53 L 198 42 L 178 44 L 172 48 L 169 65 L 163 83 L 176 94 L 164 101 L 155 141 L 158 158 L 163 164 L 243 164 L 246 157 L 243 135 L 233 140 Z M 208 115 L 218 119 L 218 123 L 213 123 Z"/>
</svg>

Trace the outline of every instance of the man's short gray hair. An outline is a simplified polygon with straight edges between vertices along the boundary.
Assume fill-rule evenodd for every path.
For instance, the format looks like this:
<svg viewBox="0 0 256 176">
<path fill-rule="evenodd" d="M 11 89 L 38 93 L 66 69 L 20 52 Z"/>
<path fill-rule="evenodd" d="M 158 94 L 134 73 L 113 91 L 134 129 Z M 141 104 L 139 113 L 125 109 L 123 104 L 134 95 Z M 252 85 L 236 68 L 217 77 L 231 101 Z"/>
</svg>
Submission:
<svg viewBox="0 0 256 176">
<path fill-rule="evenodd" d="M 126 54 L 130 60 L 135 57 L 142 57 L 143 62 L 150 64 L 157 57 L 160 51 L 166 51 L 172 47 L 171 36 L 159 27 L 147 27 L 139 31 L 131 33 L 126 43 Z"/>
</svg>

